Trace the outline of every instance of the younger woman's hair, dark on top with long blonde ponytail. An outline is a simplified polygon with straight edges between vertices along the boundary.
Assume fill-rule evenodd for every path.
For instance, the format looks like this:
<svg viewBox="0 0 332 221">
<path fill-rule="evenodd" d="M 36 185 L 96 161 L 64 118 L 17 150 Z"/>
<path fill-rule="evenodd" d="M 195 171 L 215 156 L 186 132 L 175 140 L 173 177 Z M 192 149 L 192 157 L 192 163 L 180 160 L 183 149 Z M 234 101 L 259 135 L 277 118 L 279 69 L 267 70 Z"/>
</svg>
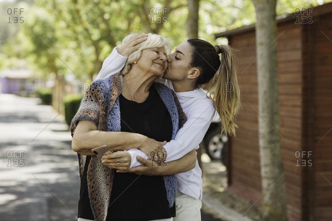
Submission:
<svg viewBox="0 0 332 221">
<path fill-rule="evenodd" d="M 235 116 L 241 107 L 240 89 L 236 76 L 235 55 L 228 45 L 213 46 L 201 39 L 189 39 L 193 47 L 191 67 L 198 67 L 196 86 L 206 84 L 207 94 L 214 101 L 221 119 L 221 132 L 235 135 Z M 221 57 L 219 57 L 221 54 Z"/>
</svg>

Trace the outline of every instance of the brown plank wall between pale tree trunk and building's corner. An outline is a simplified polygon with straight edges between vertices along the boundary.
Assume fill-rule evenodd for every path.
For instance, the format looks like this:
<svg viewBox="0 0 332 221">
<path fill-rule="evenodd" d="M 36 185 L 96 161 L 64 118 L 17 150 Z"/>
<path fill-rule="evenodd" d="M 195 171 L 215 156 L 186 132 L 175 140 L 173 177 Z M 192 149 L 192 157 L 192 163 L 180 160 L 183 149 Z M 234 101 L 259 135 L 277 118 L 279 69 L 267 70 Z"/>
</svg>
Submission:
<svg viewBox="0 0 332 221">
<path fill-rule="evenodd" d="M 280 134 L 290 220 L 302 220 L 302 28 L 278 25 Z"/>
</svg>

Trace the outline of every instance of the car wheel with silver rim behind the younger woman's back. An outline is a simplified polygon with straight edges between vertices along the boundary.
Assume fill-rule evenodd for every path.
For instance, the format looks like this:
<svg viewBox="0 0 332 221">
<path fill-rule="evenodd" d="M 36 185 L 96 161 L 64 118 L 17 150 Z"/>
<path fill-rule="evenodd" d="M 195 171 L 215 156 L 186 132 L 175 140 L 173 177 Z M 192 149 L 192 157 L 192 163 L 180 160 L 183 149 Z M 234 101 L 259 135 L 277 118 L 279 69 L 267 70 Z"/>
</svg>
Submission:
<svg viewBox="0 0 332 221">
<path fill-rule="evenodd" d="M 208 132 L 205 137 L 205 151 L 211 160 L 221 160 L 225 165 L 226 155 L 225 149 L 227 145 L 228 137 L 220 134 L 220 129 L 215 128 Z"/>
</svg>

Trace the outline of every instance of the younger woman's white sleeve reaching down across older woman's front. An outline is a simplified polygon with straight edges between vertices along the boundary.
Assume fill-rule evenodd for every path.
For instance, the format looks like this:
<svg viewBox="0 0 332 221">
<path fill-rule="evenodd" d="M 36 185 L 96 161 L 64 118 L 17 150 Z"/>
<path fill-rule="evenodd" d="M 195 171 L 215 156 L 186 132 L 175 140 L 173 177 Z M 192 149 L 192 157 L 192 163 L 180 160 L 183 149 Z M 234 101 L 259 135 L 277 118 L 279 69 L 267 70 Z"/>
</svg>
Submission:
<svg viewBox="0 0 332 221">
<path fill-rule="evenodd" d="M 180 159 L 192 150 L 199 148 L 215 111 L 212 102 L 195 102 L 191 112 L 187 114 L 187 121 L 177 132 L 175 139 L 163 146 L 167 151 L 167 162 Z"/>
</svg>

